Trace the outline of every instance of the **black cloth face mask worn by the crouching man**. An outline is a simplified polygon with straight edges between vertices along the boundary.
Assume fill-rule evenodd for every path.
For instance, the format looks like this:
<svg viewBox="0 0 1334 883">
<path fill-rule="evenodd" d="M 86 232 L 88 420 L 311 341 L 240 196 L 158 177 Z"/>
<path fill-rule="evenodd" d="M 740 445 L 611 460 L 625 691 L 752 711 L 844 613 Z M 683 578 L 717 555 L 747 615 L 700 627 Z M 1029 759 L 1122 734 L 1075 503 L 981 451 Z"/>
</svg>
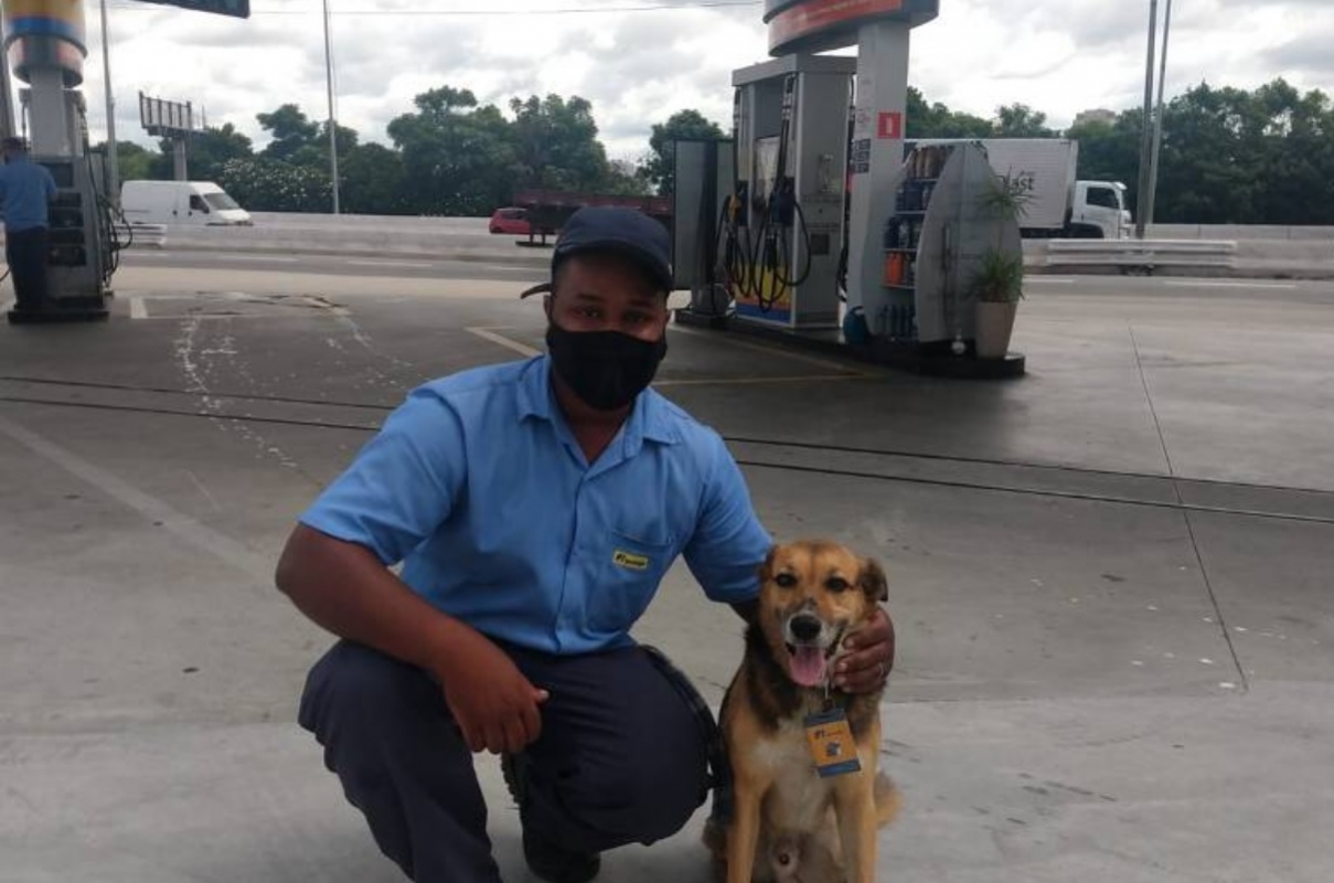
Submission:
<svg viewBox="0 0 1334 883">
<path fill-rule="evenodd" d="M 590 408 L 616 411 L 652 381 L 667 336 L 640 340 L 619 331 L 566 331 L 547 323 L 547 348 L 560 379 Z"/>
</svg>

